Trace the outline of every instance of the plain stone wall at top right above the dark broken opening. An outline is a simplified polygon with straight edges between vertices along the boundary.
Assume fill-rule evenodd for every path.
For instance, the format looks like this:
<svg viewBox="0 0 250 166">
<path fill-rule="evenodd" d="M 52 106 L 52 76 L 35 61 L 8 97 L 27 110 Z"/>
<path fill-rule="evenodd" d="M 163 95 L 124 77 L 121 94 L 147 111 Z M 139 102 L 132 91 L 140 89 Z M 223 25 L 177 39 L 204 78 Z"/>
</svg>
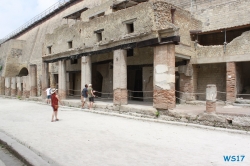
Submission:
<svg viewBox="0 0 250 166">
<path fill-rule="evenodd" d="M 249 0 L 164 1 L 189 11 L 192 17 L 202 21 L 202 28 L 197 30 L 212 31 L 250 23 Z"/>
</svg>

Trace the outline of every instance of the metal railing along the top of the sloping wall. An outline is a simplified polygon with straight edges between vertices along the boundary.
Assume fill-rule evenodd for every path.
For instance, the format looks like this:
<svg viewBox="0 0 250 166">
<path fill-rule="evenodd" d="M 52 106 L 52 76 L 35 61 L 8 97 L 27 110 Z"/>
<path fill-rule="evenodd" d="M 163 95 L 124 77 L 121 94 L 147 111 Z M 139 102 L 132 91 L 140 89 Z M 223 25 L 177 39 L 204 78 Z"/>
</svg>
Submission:
<svg viewBox="0 0 250 166">
<path fill-rule="evenodd" d="M 29 20 L 28 22 L 26 22 L 25 24 L 23 24 L 22 26 L 20 26 L 19 28 L 17 28 L 15 31 L 13 31 L 10 34 L 8 34 L 5 38 L 1 39 L 0 40 L 0 44 L 6 42 L 7 40 L 9 40 L 11 38 L 13 38 L 18 33 L 24 31 L 28 27 L 30 27 L 33 24 L 37 23 L 38 21 L 42 20 L 43 18 L 45 18 L 46 16 L 48 16 L 49 14 L 51 14 L 52 12 L 54 12 L 55 10 L 63 7 L 66 3 L 70 2 L 70 1 L 74 1 L 74 0 L 60 0 L 60 1 L 58 1 L 54 5 L 52 5 L 51 7 L 49 7 L 48 9 L 46 9 L 45 11 L 43 11 L 42 13 L 36 15 L 31 20 Z"/>
</svg>

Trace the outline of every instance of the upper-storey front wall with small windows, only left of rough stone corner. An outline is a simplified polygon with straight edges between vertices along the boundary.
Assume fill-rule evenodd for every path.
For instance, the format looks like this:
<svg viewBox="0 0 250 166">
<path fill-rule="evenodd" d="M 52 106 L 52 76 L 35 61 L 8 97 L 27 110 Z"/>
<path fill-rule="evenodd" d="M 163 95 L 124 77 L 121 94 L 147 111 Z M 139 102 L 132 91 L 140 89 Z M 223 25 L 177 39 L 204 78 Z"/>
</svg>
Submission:
<svg viewBox="0 0 250 166">
<path fill-rule="evenodd" d="M 52 46 L 52 54 L 65 52 L 70 55 L 68 41 L 73 42 L 73 49 L 88 52 L 149 39 L 155 37 L 154 34 L 150 34 L 153 26 L 152 18 L 151 4 L 141 3 L 88 22 L 77 22 L 73 26 L 62 25 L 55 29 L 53 34 L 46 35 L 44 49 Z M 131 19 L 135 19 L 134 32 L 128 34 L 127 26 L 123 22 Z M 94 31 L 100 29 L 104 30 L 102 31 L 102 41 L 98 42 Z M 139 36 L 140 38 L 138 38 Z"/>
</svg>

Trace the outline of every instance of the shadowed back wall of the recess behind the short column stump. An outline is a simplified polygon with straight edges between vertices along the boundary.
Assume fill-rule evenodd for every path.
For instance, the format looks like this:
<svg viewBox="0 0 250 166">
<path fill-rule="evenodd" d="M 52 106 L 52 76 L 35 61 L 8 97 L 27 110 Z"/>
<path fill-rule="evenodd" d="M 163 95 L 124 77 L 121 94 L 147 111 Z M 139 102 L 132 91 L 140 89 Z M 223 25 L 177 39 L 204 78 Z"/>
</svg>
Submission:
<svg viewBox="0 0 250 166">
<path fill-rule="evenodd" d="M 205 93 L 207 84 L 215 84 L 217 91 L 226 92 L 226 64 L 202 64 L 197 65 L 197 93 Z M 196 95 L 197 100 L 205 100 L 205 94 Z M 218 93 L 218 100 L 226 100 L 226 95 Z"/>
</svg>

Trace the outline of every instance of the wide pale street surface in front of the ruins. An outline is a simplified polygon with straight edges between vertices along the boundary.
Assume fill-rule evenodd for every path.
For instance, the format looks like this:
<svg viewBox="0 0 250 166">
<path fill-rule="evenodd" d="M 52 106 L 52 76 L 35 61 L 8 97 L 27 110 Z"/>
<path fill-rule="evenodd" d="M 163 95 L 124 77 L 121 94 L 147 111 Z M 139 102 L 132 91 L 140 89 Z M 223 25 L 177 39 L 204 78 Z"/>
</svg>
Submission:
<svg viewBox="0 0 250 166">
<path fill-rule="evenodd" d="M 62 166 L 250 165 L 250 136 L 0 98 L 0 131 Z M 245 155 L 228 162 L 224 155 Z"/>
</svg>

